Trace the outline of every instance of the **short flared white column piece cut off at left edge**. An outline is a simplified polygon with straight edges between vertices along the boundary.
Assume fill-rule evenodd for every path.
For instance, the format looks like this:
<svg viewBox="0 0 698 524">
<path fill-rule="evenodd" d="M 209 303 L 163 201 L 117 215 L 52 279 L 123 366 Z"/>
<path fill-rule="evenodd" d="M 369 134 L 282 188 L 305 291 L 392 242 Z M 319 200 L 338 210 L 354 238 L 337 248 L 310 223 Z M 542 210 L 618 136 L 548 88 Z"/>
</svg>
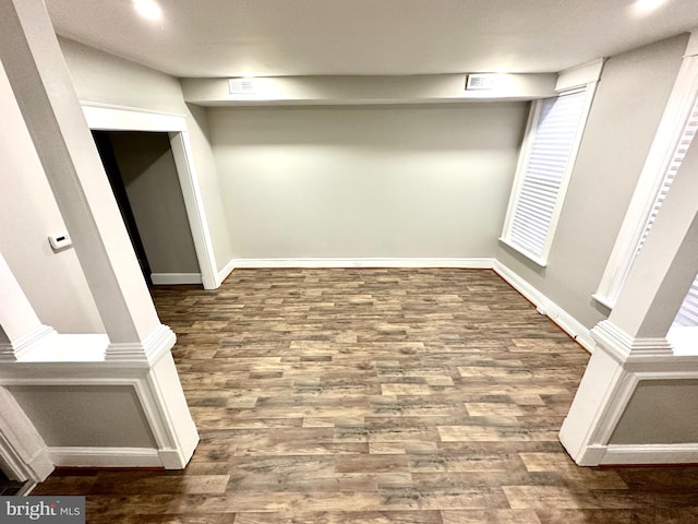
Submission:
<svg viewBox="0 0 698 524">
<path fill-rule="evenodd" d="M 0 362 L 16 361 L 57 333 L 41 323 L 0 253 Z"/>
</svg>

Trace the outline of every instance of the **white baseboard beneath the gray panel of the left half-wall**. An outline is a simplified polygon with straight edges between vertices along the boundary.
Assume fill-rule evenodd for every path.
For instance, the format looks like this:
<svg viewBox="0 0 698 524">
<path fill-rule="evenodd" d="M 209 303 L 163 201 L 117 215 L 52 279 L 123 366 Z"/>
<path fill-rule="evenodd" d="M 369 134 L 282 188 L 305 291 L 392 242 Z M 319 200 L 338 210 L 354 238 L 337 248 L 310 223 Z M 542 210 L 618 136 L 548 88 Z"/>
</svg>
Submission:
<svg viewBox="0 0 698 524">
<path fill-rule="evenodd" d="M 158 450 L 151 448 L 53 446 L 48 454 L 65 467 L 163 467 Z"/>
</svg>

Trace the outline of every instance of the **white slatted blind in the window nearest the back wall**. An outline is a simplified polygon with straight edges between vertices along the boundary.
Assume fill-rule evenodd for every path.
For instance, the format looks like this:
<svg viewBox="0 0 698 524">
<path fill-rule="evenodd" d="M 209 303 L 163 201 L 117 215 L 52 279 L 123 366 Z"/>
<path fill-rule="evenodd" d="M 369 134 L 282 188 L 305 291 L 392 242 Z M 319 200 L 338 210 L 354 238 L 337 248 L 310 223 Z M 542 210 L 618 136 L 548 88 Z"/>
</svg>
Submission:
<svg viewBox="0 0 698 524">
<path fill-rule="evenodd" d="M 546 254 L 551 223 L 562 196 L 561 187 L 579 143 L 587 93 L 562 94 L 538 104 L 522 181 L 503 237 L 525 254 L 541 259 Z"/>
</svg>

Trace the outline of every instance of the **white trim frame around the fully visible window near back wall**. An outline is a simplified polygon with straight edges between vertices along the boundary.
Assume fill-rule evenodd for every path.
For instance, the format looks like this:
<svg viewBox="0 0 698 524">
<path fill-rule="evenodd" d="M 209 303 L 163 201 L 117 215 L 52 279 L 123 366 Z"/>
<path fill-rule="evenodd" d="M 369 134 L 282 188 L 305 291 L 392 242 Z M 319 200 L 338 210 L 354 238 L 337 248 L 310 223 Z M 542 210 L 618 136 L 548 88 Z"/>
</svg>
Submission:
<svg viewBox="0 0 698 524">
<path fill-rule="evenodd" d="M 597 78 L 601 72 L 600 64 L 601 62 L 599 62 L 599 68 L 597 70 Z M 512 188 L 512 196 L 509 198 L 506 217 L 504 219 L 504 228 L 502 231 L 502 236 L 500 237 L 500 241 L 510 247 L 512 249 L 520 252 L 526 258 L 530 259 L 532 262 L 540 265 L 541 267 L 545 267 L 547 265 L 547 257 L 550 254 L 550 250 L 553 245 L 553 238 L 555 236 L 555 230 L 557 229 L 557 223 L 559 222 L 559 216 L 562 214 L 563 205 L 565 202 L 565 195 L 567 193 L 567 187 L 569 186 L 571 172 L 574 170 L 575 163 L 577 160 L 577 154 L 579 153 L 579 146 L 581 144 L 581 139 L 583 136 L 583 132 L 587 126 L 589 111 L 591 109 L 591 103 L 593 100 L 593 95 L 597 90 L 597 84 L 598 84 L 598 81 L 594 80 L 592 82 L 587 82 L 586 84 L 581 84 L 581 86 L 577 85 L 574 88 L 568 88 L 558 93 L 558 96 L 564 96 L 564 95 L 573 94 L 575 92 L 585 91 L 586 97 L 585 97 L 583 106 L 581 109 L 579 127 L 577 128 L 575 139 L 573 140 L 571 148 L 569 152 L 569 159 L 567 160 L 567 166 L 562 177 L 559 191 L 557 193 L 557 201 L 555 202 L 555 206 L 553 207 L 553 214 L 550 221 L 547 236 L 545 238 L 545 242 L 543 245 L 543 249 L 540 255 L 532 253 L 520 246 L 517 246 L 510 240 L 514 215 L 515 215 L 516 206 L 518 203 L 518 198 L 521 191 L 521 187 L 524 186 L 524 180 L 525 180 L 526 171 L 528 168 L 529 157 L 530 157 L 531 150 L 535 139 L 535 127 L 538 124 L 542 100 L 535 100 L 531 105 L 531 111 L 529 114 L 529 118 L 526 127 L 526 134 L 524 135 L 524 142 L 521 143 L 521 152 L 519 153 L 519 160 L 516 167 L 516 175 L 515 175 L 514 184 Z"/>
</svg>

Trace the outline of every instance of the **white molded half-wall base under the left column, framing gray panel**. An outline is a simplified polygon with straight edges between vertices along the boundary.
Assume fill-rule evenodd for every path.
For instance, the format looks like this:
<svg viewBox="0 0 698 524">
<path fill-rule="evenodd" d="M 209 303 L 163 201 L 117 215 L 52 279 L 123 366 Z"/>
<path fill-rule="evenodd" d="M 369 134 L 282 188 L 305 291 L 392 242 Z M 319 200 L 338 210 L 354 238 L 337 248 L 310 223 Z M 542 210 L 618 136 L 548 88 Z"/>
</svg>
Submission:
<svg viewBox="0 0 698 524">
<path fill-rule="evenodd" d="M 164 467 L 178 469 L 186 466 L 198 444 L 198 433 L 189 412 L 186 400 L 177 374 L 170 348 L 174 344 L 174 334 L 163 325 L 143 345 L 121 345 L 129 352 L 118 354 L 119 358 L 99 361 L 22 361 L 0 366 L 0 386 L 23 386 L 25 389 L 91 388 L 131 388 L 136 402 L 134 408 L 143 416 L 144 430 L 153 437 L 153 448 L 111 448 L 100 446 L 59 446 L 46 448 L 36 455 L 40 469 L 46 476 L 52 471 L 53 463 L 62 466 L 103 466 L 103 467 Z M 141 348 L 141 352 L 137 352 Z M 146 348 L 146 352 L 143 352 Z M 148 360 L 147 358 L 151 360 Z M 9 392 L 0 388 L 0 395 Z M 3 400 L 0 396 L 0 404 Z M 84 402 L 84 401 L 81 401 Z M 4 405 L 4 404 L 2 404 Z M 79 405 L 71 405 L 71 409 Z M 20 412 L 23 412 L 20 408 Z M 0 413 L 0 453 L 7 448 L 2 441 L 2 420 Z M 25 417 L 26 418 L 26 417 Z M 29 428 L 32 422 L 26 418 Z M 10 425 L 12 428 L 14 425 Z M 38 437 L 37 434 L 37 438 Z M 21 440 L 21 439 L 20 439 Z M 25 439 L 26 440 L 26 439 Z M 108 440 L 105 440 L 107 443 Z M 14 456 L 14 455 L 13 455 Z M 35 454 L 16 455 L 17 462 L 31 468 Z M 9 462 L 1 455 L 3 462 Z M 13 469 L 14 471 L 14 469 Z M 24 471 L 24 469 L 23 469 Z M 40 475 L 28 478 L 41 481 Z"/>
</svg>

